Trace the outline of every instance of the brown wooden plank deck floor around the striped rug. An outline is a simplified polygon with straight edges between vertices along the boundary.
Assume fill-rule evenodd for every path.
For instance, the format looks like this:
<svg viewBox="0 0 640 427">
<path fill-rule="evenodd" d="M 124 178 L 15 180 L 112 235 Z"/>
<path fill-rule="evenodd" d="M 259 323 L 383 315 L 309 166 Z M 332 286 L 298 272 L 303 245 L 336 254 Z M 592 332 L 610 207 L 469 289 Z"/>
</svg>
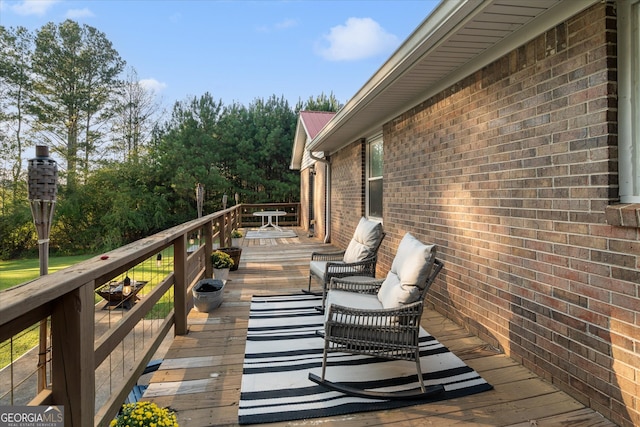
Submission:
<svg viewBox="0 0 640 427">
<path fill-rule="evenodd" d="M 174 339 L 161 369 L 151 378 L 144 400 L 175 409 L 180 427 L 238 425 L 251 297 L 300 292 L 308 283 L 310 253 L 330 248 L 308 238 L 302 230 L 298 234 L 289 239 L 244 240 L 240 268 L 231 272 L 222 306 L 209 314 L 191 311 L 189 333 Z M 615 425 L 435 311 L 425 311 L 422 325 L 478 371 L 494 390 L 397 410 L 270 425 Z"/>
</svg>

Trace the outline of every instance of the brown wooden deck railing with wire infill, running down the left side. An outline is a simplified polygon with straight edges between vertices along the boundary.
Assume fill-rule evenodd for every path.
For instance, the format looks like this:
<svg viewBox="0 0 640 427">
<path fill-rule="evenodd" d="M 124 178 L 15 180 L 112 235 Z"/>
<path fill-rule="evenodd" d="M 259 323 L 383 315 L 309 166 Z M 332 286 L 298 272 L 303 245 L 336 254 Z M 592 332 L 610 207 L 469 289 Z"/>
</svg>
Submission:
<svg viewBox="0 0 640 427">
<path fill-rule="evenodd" d="M 51 328 L 49 363 L 31 369 L 50 366 L 46 387 L 24 391 L 29 381 L 16 368 L 25 361 L 12 355 L 1 371 L 0 403 L 60 405 L 65 426 L 108 425 L 168 333 L 187 333 L 191 288 L 211 277 L 212 249 L 230 246 L 233 229 L 260 225 L 259 210 L 284 210 L 281 223 L 299 225 L 297 203 L 237 205 L 0 292 L 3 348 L 41 321 Z M 95 291 L 125 276 L 146 282 L 139 301 L 129 309 L 96 306 Z"/>
</svg>

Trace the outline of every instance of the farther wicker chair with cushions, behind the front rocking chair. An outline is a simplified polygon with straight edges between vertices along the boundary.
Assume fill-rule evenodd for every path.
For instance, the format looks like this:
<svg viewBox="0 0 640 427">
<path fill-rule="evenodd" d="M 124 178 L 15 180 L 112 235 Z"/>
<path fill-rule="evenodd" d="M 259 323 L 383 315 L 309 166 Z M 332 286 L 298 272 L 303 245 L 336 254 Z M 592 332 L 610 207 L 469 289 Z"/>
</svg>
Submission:
<svg viewBox="0 0 640 427">
<path fill-rule="evenodd" d="M 327 285 L 332 277 L 375 277 L 378 249 L 384 236 L 382 224 L 361 218 L 346 250 L 311 254 L 309 286 L 302 292 L 323 295 L 322 307 L 324 307 Z M 311 281 L 314 277 L 321 283 L 322 292 L 311 291 Z"/>
</svg>

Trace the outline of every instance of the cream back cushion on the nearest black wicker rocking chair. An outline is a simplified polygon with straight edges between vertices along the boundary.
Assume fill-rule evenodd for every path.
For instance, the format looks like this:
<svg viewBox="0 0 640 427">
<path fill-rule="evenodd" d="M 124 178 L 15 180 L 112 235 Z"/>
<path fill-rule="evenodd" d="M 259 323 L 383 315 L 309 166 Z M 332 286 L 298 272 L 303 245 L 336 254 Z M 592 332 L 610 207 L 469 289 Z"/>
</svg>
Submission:
<svg viewBox="0 0 640 427">
<path fill-rule="evenodd" d="M 407 233 L 400 241 L 391 270 L 378 291 L 384 308 L 397 308 L 420 298 L 435 262 L 435 245 L 425 245 Z"/>
</svg>

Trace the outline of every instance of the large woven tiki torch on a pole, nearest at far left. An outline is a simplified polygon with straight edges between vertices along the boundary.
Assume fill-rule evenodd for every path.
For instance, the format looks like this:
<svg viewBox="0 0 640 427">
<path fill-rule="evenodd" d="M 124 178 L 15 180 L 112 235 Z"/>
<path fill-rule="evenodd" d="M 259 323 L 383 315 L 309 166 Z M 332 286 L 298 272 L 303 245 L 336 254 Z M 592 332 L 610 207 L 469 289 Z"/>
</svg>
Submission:
<svg viewBox="0 0 640 427">
<path fill-rule="evenodd" d="M 31 215 L 38 232 L 38 256 L 40 275 L 49 272 L 49 232 L 53 220 L 58 193 L 58 165 L 49 157 L 49 147 L 36 146 L 35 159 L 29 160 L 29 203 Z M 46 388 L 47 382 L 47 320 L 40 321 L 40 353 L 38 358 L 38 391 Z"/>
</svg>

